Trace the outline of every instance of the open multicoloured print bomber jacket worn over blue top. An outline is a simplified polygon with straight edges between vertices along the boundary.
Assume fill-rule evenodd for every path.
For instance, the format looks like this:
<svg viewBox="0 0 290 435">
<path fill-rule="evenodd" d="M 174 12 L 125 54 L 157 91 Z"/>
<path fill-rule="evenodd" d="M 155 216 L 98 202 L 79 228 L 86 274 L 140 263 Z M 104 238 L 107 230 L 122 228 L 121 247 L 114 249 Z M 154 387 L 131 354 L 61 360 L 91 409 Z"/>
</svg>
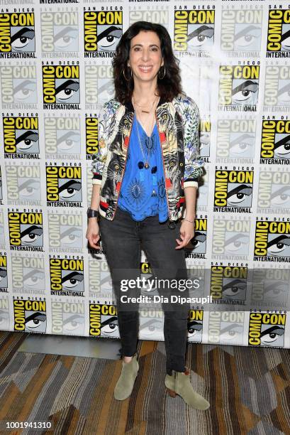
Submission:
<svg viewBox="0 0 290 435">
<path fill-rule="evenodd" d="M 91 171 L 93 184 L 101 184 L 99 213 L 113 220 L 126 168 L 134 108 L 117 100 L 104 104 L 99 115 L 99 148 L 94 154 Z M 199 108 L 184 93 L 172 102 L 160 99 L 156 122 L 162 148 L 164 183 L 169 220 L 182 217 L 184 188 L 198 187 L 204 162 L 199 157 Z"/>
</svg>

